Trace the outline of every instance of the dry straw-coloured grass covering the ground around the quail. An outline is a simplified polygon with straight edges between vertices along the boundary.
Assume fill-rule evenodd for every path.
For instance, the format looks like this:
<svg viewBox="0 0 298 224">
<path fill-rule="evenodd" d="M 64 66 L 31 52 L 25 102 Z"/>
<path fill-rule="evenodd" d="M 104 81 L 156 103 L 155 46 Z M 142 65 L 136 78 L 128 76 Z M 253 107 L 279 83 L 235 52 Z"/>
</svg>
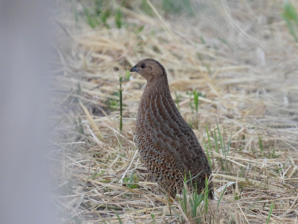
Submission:
<svg viewBox="0 0 298 224">
<path fill-rule="evenodd" d="M 50 154 L 58 223 L 266 223 L 271 203 L 268 223 L 298 223 L 298 45 L 280 17 L 282 1 L 199 1 L 195 16 L 160 8 L 148 16 L 140 2 L 120 7 L 122 28 L 112 15 L 109 29 L 91 29 L 72 14 L 84 16 L 81 4 L 59 1 Z M 143 58 L 164 65 L 182 116 L 208 146 L 217 199 L 227 186 L 207 214 L 198 208 L 200 219 L 169 203 L 139 159 L 138 74 L 122 82 L 119 131 L 119 76 Z M 206 94 L 198 113 L 193 90 Z M 130 177 L 134 186 L 124 183 Z"/>
</svg>

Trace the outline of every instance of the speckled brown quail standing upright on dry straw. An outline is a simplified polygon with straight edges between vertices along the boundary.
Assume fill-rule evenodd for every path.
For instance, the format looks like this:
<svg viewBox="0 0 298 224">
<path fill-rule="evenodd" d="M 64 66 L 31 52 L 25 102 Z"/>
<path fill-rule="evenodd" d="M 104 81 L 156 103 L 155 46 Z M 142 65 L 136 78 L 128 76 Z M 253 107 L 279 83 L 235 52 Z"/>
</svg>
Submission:
<svg viewBox="0 0 298 224">
<path fill-rule="evenodd" d="M 130 71 L 147 80 L 134 134 L 145 167 L 171 197 L 182 193 L 185 174 L 190 179 L 189 171 L 193 187 L 196 183 L 198 193 L 201 193 L 205 188 L 205 178 L 211 175 L 211 168 L 195 133 L 171 97 L 166 70 L 156 60 L 143 59 Z M 208 185 L 211 199 L 212 188 L 211 181 Z"/>
</svg>

